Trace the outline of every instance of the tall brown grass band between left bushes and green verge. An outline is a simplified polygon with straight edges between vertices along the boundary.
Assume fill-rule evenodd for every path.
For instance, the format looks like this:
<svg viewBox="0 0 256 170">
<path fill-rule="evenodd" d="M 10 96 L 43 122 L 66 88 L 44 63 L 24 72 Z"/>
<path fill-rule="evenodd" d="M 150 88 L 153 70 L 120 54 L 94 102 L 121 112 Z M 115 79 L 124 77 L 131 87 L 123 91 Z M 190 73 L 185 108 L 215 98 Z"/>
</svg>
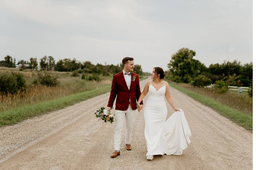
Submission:
<svg viewBox="0 0 256 170">
<path fill-rule="evenodd" d="M 65 82 L 66 81 L 66 82 Z M 10 108 L 31 105 L 42 101 L 58 99 L 67 95 L 93 90 L 102 85 L 111 84 L 111 80 L 86 81 L 78 77 L 61 80 L 62 85 L 58 87 L 34 86 L 30 85 L 24 91 L 18 91 L 17 94 L 0 94 L 0 111 L 6 111 Z"/>
</svg>

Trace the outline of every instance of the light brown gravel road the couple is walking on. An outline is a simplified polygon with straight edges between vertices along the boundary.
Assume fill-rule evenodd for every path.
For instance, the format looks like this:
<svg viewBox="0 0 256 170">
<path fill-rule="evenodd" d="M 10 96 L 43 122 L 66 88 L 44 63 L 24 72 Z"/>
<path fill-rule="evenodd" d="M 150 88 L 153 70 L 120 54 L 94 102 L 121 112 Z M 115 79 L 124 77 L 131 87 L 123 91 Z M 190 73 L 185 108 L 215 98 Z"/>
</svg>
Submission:
<svg viewBox="0 0 256 170">
<path fill-rule="evenodd" d="M 141 81 L 141 90 L 147 80 Z M 158 155 L 152 161 L 146 160 L 142 110 L 136 111 L 132 150 L 126 150 L 123 129 L 121 154 L 110 158 L 114 151 L 114 123 L 102 124 L 94 115 L 99 107 L 106 107 L 110 94 L 106 93 L 0 128 L 0 169 L 252 169 L 250 131 L 174 88 L 170 90 L 175 105 L 184 111 L 192 134 L 191 144 L 181 156 Z M 174 111 L 169 104 L 167 108 L 168 118 Z"/>
</svg>

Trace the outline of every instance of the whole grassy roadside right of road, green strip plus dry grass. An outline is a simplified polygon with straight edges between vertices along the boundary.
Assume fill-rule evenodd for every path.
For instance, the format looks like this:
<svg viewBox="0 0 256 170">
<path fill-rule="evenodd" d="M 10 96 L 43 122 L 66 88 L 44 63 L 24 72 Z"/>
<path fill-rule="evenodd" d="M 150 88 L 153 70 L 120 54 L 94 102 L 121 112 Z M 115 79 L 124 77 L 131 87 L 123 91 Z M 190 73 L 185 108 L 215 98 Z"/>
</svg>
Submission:
<svg viewBox="0 0 256 170">
<path fill-rule="evenodd" d="M 222 116 L 229 118 L 239 126 L 243 126 L 245 129 L 252 132 L 252 98 L 249 96 L 232 93 L 219 94 L 214 89 L 193 87 L 185 83 L 169 82 L 169 84 L 171 87 L 213 108 Z"/>
</svg>

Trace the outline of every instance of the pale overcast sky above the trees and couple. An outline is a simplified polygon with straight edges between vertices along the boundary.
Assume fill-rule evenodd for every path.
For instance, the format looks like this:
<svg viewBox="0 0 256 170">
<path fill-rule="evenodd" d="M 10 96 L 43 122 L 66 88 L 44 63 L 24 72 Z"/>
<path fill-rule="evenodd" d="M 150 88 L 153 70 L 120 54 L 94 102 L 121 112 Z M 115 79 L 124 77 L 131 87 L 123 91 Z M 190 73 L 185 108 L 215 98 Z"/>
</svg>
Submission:
<svg viewBox="0 0 256 170">
<path fill-rule="evenodd" d="M 0 0 L 0 60 L 52 56 L 145 72 L 185 47 L 207 67 L 253 60 L 252 0 Z"/>
</svg>

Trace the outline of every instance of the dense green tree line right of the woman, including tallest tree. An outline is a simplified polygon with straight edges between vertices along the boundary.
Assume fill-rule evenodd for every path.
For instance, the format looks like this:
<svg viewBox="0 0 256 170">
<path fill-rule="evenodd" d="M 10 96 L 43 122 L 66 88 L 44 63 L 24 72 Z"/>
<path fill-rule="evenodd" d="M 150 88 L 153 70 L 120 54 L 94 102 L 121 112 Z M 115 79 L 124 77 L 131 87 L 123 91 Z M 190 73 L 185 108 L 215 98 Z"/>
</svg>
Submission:
<svg viewBox="0 0 256 170">
<path fill-rule="evenodd" d="M 195 60 L 195 51 L 181 48 L 171 56 L 168 63 L 168 78 L 175 82 L 191 83 L 204 87 L 214 83 L 220 92 L 226 92 L 228 86 L 250 86 L 252 89 L 253 63 L 241 64 L 240 61 L 225 61 L 206 67 Z M 251 94 L 252 95 L 252 94 Z"/>
</svg>

